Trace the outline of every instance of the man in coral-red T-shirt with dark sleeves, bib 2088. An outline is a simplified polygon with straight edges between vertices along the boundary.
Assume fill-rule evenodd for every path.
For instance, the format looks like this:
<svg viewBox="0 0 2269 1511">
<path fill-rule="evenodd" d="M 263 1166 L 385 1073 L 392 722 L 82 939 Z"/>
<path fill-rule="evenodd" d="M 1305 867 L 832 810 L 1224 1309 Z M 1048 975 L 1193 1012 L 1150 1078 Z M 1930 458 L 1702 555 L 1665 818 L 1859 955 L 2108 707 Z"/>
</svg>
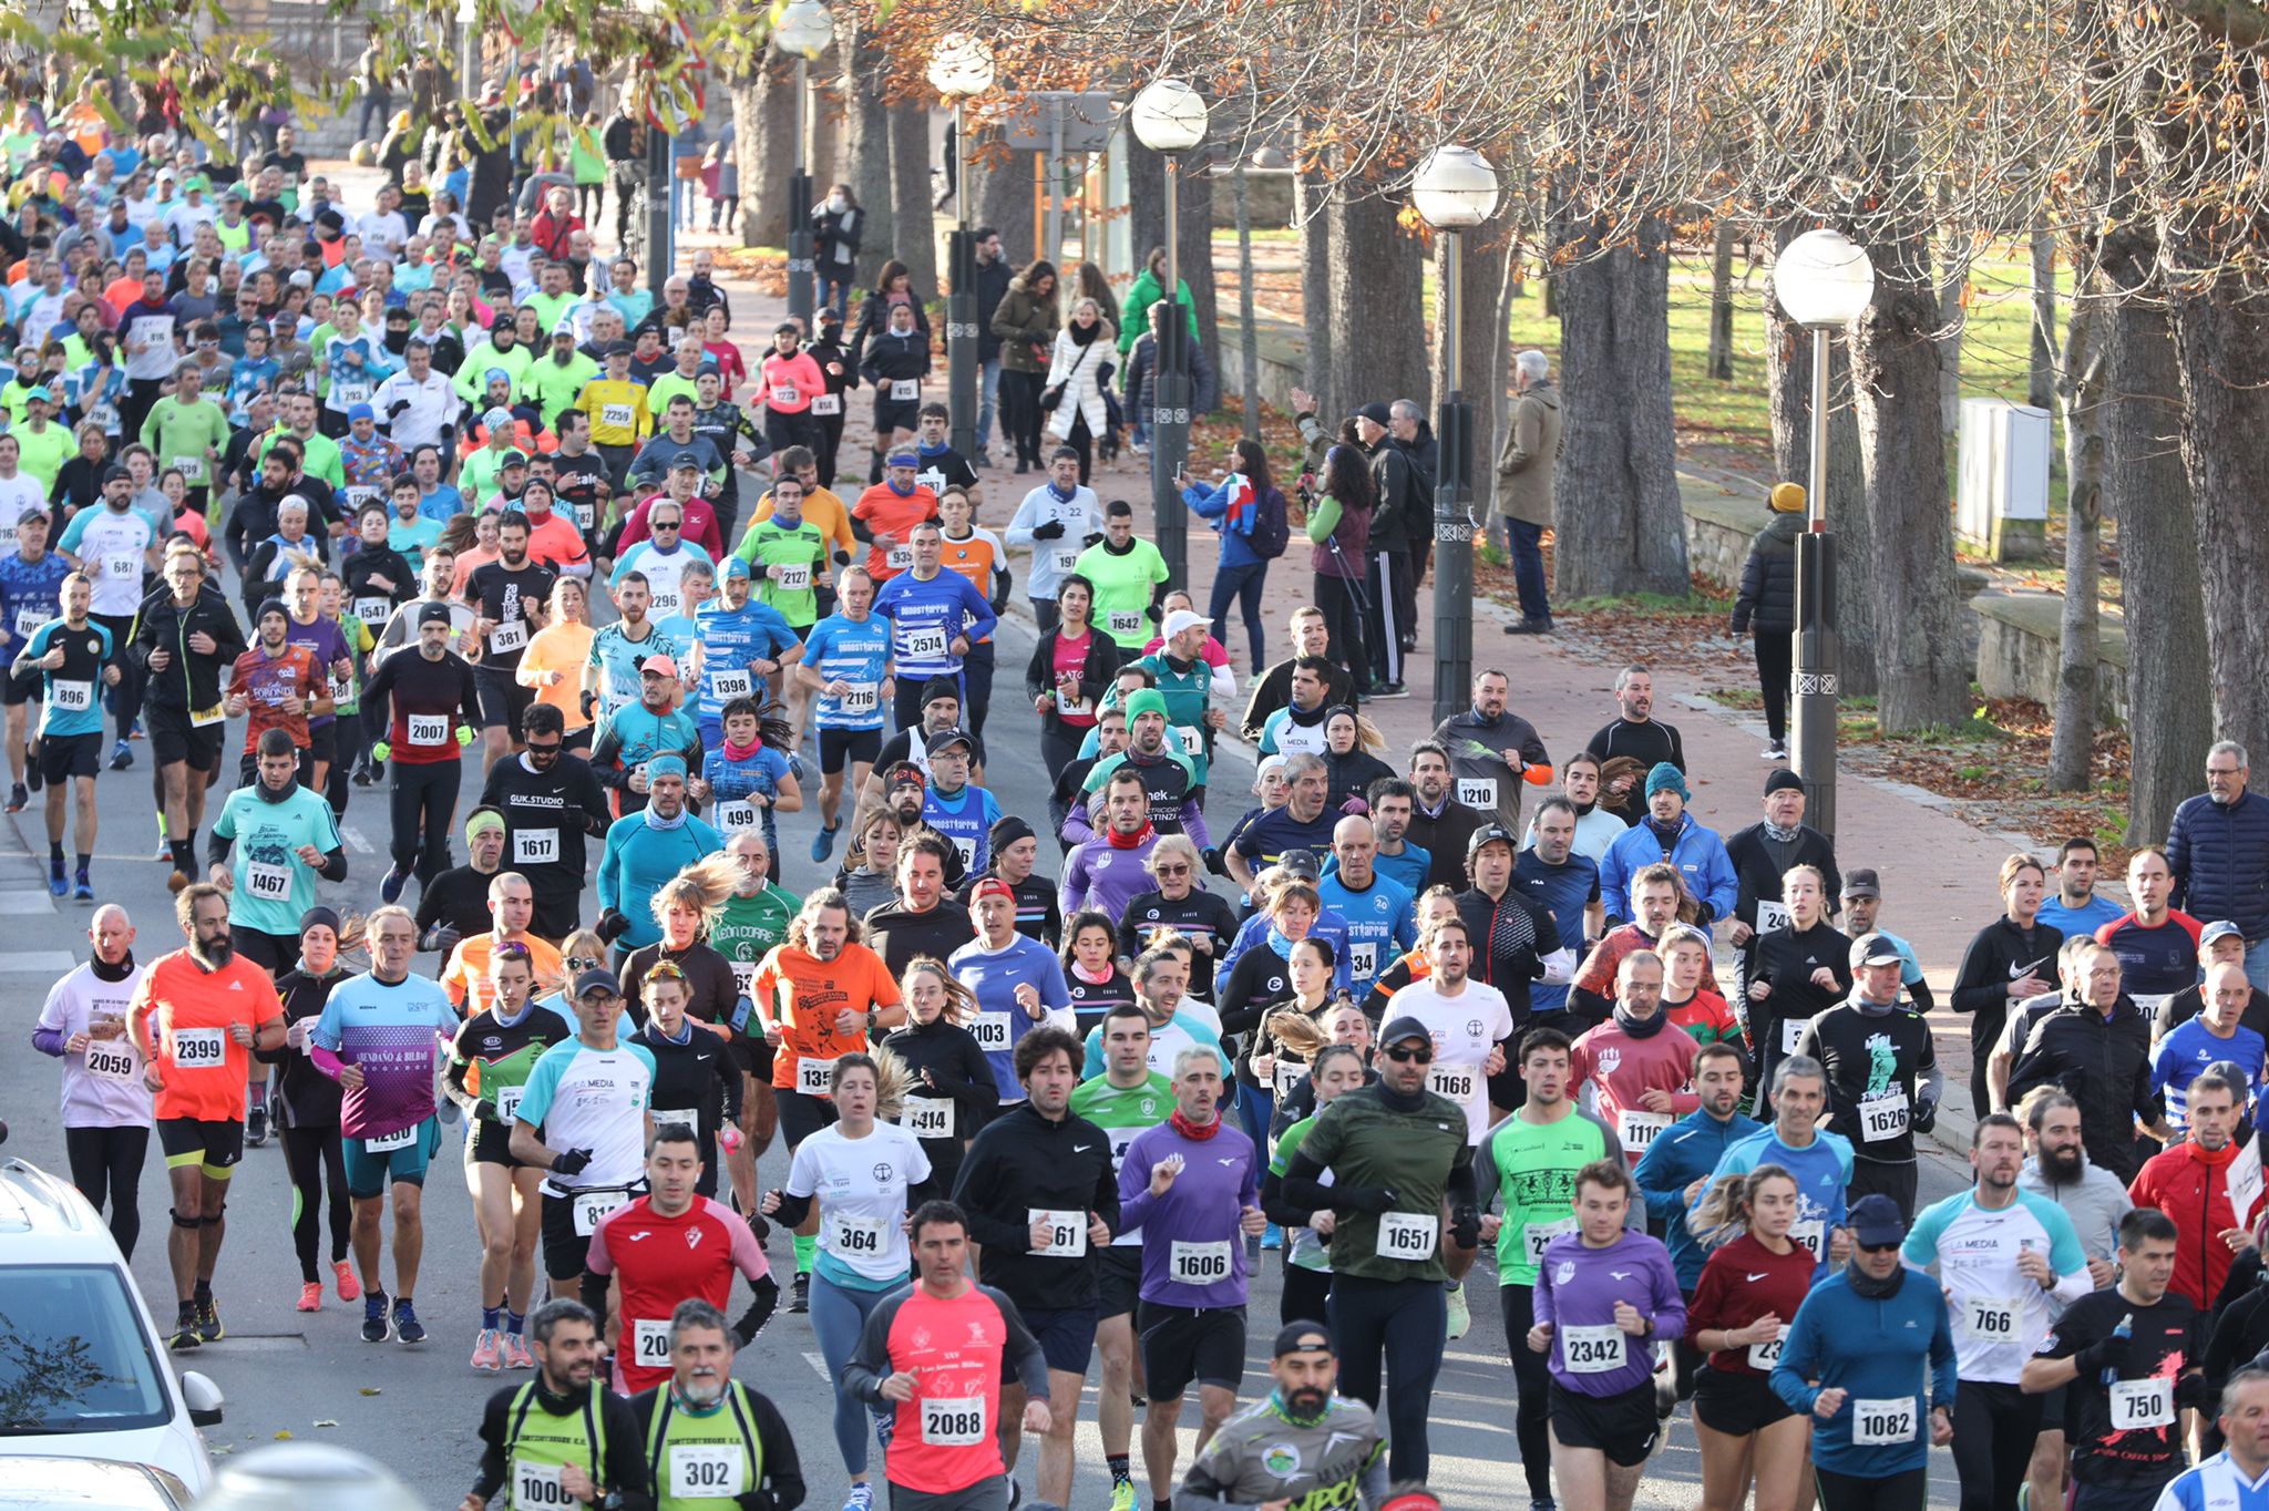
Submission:
<svg viewBox="0 0 2269 1511">
<path fill-rule="evenodd" d="M 953 1202 L 914 1212 L 921 1280 L 867 1314 L 842 1388 L 894 1402 L 889 1484 L 930 1506 L 1005 1504 L 1001 1479 L 1001 1377 L 1014 1366 L 1026 1388 L 1023 1429 L 1048 1432 L 1048 1359 L 1017 1316 L 1017 1302 L 969 1280 L 969 1221 Z"/>
</svg>

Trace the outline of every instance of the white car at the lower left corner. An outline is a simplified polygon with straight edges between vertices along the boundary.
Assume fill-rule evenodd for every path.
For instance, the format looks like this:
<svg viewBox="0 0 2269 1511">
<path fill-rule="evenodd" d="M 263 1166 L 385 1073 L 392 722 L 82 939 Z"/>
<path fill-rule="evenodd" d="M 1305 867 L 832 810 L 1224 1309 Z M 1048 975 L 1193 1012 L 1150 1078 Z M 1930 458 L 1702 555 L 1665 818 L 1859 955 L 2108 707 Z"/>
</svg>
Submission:
<svg viewBox="0 0 2269 1511">
<path fill-rule="evenodd" d="M 220 1386 L 175 1377 L 125 1255 L 84 1196 L 0 1162 L 0 1452 L 141 1463 L 202 1495 Z"/>
</svg>

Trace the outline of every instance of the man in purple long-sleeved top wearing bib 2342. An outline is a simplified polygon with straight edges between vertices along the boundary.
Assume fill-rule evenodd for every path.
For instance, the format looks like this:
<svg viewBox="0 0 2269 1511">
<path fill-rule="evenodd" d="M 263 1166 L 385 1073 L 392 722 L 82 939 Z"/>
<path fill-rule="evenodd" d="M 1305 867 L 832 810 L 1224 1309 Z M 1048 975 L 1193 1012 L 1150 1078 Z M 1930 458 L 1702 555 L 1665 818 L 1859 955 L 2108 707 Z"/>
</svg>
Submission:
<svg viewBox="0 0 2269 1511">
<path fill-rule="evenodd" d="M 1684 1336 L 1670 1250 L 1625 1221 L 1638 1187 L 1620 1159 L 1575 1175 L 1575 1232 L 1536 1259 L 1529 1350 L 1552 1373 L 1552 1472 L 1575 1511 L 1631 1511 L 1663 1432 L 1654 1404 L 1654 1343 Z"/>
</svg>

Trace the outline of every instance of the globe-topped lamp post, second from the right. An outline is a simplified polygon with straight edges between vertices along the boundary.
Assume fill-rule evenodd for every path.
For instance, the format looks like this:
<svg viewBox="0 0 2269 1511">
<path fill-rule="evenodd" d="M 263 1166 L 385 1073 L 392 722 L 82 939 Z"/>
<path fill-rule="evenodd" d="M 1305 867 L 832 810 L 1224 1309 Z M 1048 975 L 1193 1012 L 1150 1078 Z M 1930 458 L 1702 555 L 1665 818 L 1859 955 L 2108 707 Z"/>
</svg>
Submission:
<svg viewBox="0 0 2269 1511">
<path fill-rule="evenodd" d="M 1466 404 L 1466 247 L 1464 231 L 1498 213 L 1498 170 L 1473 147 L 1443 145 L 1411 182 L 1418 216 L 1443 234 L 1441 352 L 1443 397 L 1434 440 L 1434 721 L 1470 706 L 1473 683 L 1473 406 Z"/>
</svg>

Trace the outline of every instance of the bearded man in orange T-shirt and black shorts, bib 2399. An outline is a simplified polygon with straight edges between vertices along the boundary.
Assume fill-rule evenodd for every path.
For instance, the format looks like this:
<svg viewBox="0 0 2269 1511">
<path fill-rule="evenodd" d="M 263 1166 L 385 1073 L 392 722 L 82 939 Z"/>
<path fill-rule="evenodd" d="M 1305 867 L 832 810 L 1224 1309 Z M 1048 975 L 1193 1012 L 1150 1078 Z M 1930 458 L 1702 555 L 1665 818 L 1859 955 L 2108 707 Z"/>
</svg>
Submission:
<svg viewBox="0 0 2269 1511">
<path fill-rule="evenodd" d="M 229 894 L 182 887 L 175 919 L 188 944 L 150 962 L 127 1005 L 127 1035 L 154 1091 L 157 1141 L 172 1187 L 166 1259 L 179 1311 L 168 1345 L 218 1343 L 213 1268 L 227 1234 L 229 1175 L 245 1153 L 245 1075 L 252 1050 L 284 1048 L 275 982 L 229 948 Z"/>
</svg>

